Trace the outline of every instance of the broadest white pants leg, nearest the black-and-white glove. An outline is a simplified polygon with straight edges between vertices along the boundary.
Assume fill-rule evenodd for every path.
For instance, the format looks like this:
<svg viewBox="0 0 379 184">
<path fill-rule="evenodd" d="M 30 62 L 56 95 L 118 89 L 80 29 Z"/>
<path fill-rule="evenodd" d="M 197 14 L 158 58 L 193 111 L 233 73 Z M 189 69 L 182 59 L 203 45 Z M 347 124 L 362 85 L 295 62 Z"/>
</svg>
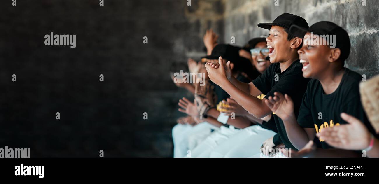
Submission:
<svg viewBox="0 0 379 184">
<path fill-rule="evenodd" d="M 258 125 L 246 127 L 217 146 L 210 157 L 251 157 L 260 153 L 263 142 L 275 134 Z"/>
</svg>

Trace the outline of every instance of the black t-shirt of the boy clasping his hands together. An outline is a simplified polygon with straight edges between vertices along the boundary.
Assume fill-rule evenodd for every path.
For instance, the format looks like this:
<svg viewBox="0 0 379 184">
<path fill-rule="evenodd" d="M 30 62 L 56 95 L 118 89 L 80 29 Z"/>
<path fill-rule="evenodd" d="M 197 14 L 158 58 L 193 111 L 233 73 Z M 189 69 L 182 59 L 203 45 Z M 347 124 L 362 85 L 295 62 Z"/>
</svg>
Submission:
<svg viewBox="0 0 379 184">
<path fill-rule="evenodd" d="M 294 113 L 298 117 L 302 98 L 309 82 L 309 79 L 303 77 L 302 67 L 299 60 L 296 60 L 285 71 L 280 72 L 280 63 L 274 63 L 262 75 L 253 80 L 253 83 L 258 90 L 266 94 L 266 99 L 273 96 L 276 91 L 288 94 L 293 100 Z M 278 131 L 278 134 L 274 136 L 274 144 L 284 143 L 286 148 L 297 150 L 288 139 L 283 121 L 277 115 L 273 116 Z"/>
</svg>

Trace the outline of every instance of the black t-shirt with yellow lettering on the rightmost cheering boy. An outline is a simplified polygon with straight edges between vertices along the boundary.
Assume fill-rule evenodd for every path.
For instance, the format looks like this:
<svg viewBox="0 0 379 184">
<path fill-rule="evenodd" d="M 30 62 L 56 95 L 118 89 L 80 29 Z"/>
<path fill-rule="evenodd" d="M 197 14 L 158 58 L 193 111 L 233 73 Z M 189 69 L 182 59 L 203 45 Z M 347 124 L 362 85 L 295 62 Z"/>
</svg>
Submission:
<svg viewBox="0 0 379 184">
<path fill-rule="evenodd" d="M 314 128 L 319 132 L 323 128 L 346 124 L 347 122 L 341 118 L 341 113 L 345 112 L 361 120 L 373 133 L 374 129 L 368 122 L 360 102 L 360 81 L 362 81 L 360 74 L 345 68 L 338 88 L 331 94 L 325 94 L 319 80 L 310 80 L 300 107 L 298 117 L 300 126 Z M 319 141 L 321 148 L 333 148 L 323 140 Z"/>
</svg>

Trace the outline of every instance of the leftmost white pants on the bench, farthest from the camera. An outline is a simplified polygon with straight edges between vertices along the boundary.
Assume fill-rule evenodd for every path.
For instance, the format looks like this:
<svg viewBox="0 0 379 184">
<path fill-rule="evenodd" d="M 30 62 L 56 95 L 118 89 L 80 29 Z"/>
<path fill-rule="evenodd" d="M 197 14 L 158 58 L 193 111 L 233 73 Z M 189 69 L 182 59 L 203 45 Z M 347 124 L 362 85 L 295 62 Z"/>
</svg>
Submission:
<svg viewBox="0 0 379 184">
<path fill-rule="evenodd" d="M 196 126 L 189 124 L 177 124 L 172 128 L 172 140 L 174 142 L 174 158 L 180 158 L 187 155 L 190 146 L 196 146 L 197 143 L 202 141 L 202 137 L 211 134 L 211 129 L 218 130 L 219 127 L 213 126 L 207 122 L 202 122 Z M 198 133 L 204 134 L 202 137 L 194 137 L 189 140 L 191 135 Z"/>
</svg>

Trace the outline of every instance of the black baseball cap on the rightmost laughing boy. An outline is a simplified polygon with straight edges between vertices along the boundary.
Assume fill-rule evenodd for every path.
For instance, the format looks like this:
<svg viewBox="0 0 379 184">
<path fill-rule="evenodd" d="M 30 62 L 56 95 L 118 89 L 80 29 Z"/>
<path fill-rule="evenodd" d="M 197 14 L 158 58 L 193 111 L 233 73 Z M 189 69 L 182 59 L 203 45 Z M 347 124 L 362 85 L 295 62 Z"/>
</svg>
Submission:
<svg viewBox="0 0 379 184">
<path fill-rule="evenodd" d="M 340 60 L 345 61 L 349 57 L 351 47 L 349 34 L 337 24 L 329 21 L 320 21 L 309 28 L 298 25 L 292 25 L 290 28 L 290 33 L 299 38 L 304 38 L 307 32 L 314 35 L 335 35 L 335 48 L 341 50 Z"/>
</svg>

